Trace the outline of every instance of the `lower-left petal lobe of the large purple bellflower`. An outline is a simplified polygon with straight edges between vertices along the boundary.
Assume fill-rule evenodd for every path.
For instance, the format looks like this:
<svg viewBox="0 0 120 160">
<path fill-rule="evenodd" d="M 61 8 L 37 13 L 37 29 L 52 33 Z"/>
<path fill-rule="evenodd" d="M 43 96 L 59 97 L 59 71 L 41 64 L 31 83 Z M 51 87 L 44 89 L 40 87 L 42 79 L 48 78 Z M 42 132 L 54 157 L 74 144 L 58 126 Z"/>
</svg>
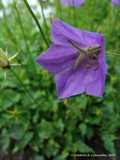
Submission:
<svg viewBox="0 0 120 160">
<path fill-rule="evenodd" d="M 70 96 L 83 93 L 85 91 L 84 77 L 85 71 L 66 70 L 55 76 L 58 97 L 64 99 Z"/>
</svg>

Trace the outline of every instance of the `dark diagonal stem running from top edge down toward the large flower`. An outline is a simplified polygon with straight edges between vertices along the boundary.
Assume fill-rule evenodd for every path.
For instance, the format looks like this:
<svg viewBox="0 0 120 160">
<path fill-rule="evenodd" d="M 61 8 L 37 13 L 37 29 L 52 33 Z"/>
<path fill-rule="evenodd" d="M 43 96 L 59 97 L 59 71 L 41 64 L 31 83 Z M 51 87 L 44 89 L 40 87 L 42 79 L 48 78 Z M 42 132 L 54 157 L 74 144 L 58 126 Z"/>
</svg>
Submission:
<svg viewBox="0 0 120 160">
<path fill-rule="evenodd" d="M 23 0 L 23 1 L 24 1 L 25 5 L 26 5 L 27 9 L 29 10 L 30 14 L 32 15 L 32 17 L 33 17 L 35 23 L 37 24 L 37 27 L 38 27 L 38 29 L 39 29 L 41 35 L 42 35 L 42 38 L 43 38 L 45 44 L 46 44 L 47 47 L 48 47 L 48 46 L 49 46 L 48 41 L 47 41 L 47 39 L 46 39 L 46 37 L 45 37 L 45 34 L 44 34 L 44 32 L 43 32 L 43 29 L 42 29 L 42 27 L 41 27 L 41 25 L 40 25 L 40 23 L 39 23 L 39 21 L 38 21 L 36 15 L 35 15 L 34 12 L 32 11 L 32 9 L 31 9 L 31 7 L 30 7 L 28 1 L 27 1 L 27 0 Z"/>
</svg>

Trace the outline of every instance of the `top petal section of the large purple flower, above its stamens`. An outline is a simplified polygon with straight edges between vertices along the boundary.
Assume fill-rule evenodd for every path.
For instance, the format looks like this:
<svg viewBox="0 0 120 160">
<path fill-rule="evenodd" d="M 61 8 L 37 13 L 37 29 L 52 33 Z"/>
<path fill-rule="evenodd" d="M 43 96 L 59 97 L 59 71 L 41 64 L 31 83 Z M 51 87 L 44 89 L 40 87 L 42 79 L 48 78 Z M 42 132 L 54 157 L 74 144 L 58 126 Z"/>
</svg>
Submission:
<svg viewBox="0 0 120 160">
<path fill-rule="evenodd" d="M 70 46 L 68 40 L 73 40 L 81 47 L 87 47 L 102 43 L 103 36 L 96 32 L 81 31 L 59 19 L 54 20 L 52 24 L 52 41 L 58 45 Z"/>
</svg>

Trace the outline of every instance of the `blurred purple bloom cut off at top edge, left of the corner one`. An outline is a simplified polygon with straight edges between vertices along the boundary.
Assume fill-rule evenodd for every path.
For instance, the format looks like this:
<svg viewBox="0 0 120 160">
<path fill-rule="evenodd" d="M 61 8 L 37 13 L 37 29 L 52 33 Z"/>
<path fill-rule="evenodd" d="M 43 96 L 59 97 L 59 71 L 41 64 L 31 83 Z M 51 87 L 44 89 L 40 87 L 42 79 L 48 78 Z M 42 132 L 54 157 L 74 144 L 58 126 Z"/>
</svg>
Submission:
<svg viewBox="0 0 120 160">
<path fill-rule="evenodd" d="M 84 1 L 85 0 L 61 0 L 61 3 L 64 6 L 80 7 L 84 4 Z"/>
</svg>

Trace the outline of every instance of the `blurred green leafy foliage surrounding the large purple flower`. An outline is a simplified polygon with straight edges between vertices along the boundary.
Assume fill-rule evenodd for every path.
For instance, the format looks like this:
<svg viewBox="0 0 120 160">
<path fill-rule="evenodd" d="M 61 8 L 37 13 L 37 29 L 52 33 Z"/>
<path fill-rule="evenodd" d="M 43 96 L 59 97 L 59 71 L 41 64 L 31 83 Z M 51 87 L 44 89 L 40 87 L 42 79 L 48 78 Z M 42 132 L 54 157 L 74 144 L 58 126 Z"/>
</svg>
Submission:
<svg viewBox="0 0 120 160">
<path fill-rule="evenodd" d="M 0 69 L 0 155 L 27 152 L 32 160 L 65 160 L 75 153 L 115 153 L 120 128 L 120 8 L 109 0 L 86 0 L 77 9 L 65 8 L 59 0 L 5 2 L 0 0 L 0 48 L 9 57 L 19 53 L 13 63 L 21 66 Z M 60 102 L 53 76 L 36 63 L 50 44 L 56 17 L 105 36 L 108 74 L 103 98 L 78 95 Z"/>
</svg>

